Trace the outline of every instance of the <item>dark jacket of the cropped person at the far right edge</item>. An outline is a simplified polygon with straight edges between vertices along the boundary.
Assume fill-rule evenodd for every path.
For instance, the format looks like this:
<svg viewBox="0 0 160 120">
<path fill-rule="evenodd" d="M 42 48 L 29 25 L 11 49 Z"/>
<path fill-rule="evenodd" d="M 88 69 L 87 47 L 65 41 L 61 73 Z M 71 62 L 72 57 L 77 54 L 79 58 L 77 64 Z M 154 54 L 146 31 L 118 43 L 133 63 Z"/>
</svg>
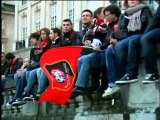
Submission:
<svg viewBox="0 0 160 120">
<path fill-rule="evenodd" d="M 160 28 L 160 6 L 158 6 L 157 11 L 153 17 L 153 20 L 148 25 L 145 32 L 148 32 L 148 31 L 153 30 L 155 28 Z"/>
</svg>

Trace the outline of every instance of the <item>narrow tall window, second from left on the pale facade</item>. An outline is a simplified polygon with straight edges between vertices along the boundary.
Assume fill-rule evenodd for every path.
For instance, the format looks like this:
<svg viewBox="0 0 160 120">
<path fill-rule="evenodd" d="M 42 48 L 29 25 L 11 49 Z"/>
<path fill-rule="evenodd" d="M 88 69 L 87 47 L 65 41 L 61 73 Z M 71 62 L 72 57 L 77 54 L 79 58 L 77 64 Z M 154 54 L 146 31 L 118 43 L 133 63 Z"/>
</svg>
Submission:
<svg viewBox="0 0 160 120">
<path fill-rule="evenodd" d="M 36 31 L 40 30 L 40 10 L 35 12 L 35 29 Z"/>
</svg>

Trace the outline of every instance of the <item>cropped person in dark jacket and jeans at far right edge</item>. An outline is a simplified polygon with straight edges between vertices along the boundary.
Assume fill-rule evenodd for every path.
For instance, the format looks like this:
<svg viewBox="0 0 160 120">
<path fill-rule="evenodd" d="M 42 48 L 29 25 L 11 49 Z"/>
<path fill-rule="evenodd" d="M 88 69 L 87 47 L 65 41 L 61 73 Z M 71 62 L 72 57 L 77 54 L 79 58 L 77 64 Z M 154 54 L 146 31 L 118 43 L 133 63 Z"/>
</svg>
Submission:
<svg viewBox="0 0 160 120">
<path fill-rule="evenodd" d="M 160 0 L 152 22 L 147 27 L 145 34 L 141 38 L 142 54 L 145 60 L 146 76 L 142 83 L 155 83 L 159 80 L 157 62 L 156 62 L 156 45 L 160 43 Z"/>
</svg>

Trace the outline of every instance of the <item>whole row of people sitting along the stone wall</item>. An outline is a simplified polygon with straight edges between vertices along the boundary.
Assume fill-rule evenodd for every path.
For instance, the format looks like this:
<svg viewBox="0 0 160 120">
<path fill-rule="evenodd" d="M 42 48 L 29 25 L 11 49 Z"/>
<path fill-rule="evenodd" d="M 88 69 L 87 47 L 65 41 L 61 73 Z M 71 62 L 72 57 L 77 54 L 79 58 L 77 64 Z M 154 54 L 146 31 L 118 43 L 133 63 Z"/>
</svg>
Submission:
<svg viewBox="0 0 160 120">
<path fill-rule="evenodd" d="M 159 0 L 156 1 L 160 4 Z M 88 86 L 105 98 L 118 92 L 119 85 L 137 82 L 141 56 L 146 70 L 142 83 L 158 82 L 156 45 L 160 42 L 160 7 L 153 14 L 142 0 L 124 0 L 124 6 L 124 13 L 116 5 L 100 7 L 94 13 L 89 9 L 83 10 L 81 31 L 75 31 L 72 21 L 64 19 L 62 30 L 42 28 L 31 33 L 34 47 L 28 58 L 2 52 L 1 89 L 3 91 L 6 81 L 14 79 L 16 83 L 14 98 L 6 105 L 18 106 L 39 99 L 49 84 L 39 64 L 41 55 L 48 49 L 62 46 L 93 48 L 78 58 L 71 98 L 90 92 Z M 35 84 L 38 85 L 36 92 Z"/>
</svg>

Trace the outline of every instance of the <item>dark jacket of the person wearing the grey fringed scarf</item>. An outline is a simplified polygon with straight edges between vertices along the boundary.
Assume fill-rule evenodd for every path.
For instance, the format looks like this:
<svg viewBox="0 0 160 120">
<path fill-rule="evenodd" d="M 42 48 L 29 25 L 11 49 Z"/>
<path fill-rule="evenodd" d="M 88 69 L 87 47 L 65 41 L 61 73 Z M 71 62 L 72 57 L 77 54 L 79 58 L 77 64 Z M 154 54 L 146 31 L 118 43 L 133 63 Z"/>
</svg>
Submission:
<svg viewBox="0 0 160 120">
<path fill-rule="evenodd" d="M 129 20 L 125 17 L 125 15 L 127 16 L 126 13 L 124 13 L 120 16 L 119 21 L 118 21 L 117 30 L 114 32 L 114 36 L 118 41 L 122 40 L 128 36 L 131 36 L 133 34 L 144 33 L 145 29 L 147 28 L 147 25 L 152 20 L 151 10 L 149 9 L 149 7 L 145 7 L 142 9 L 142 12 L 141 12 L 141 22 L 142 22 L 141 30 L 134 31 L 134 32 L 132 32 L 132 31 L 128 32 L 127 26 L 128 26 Z"/>
</svg>

